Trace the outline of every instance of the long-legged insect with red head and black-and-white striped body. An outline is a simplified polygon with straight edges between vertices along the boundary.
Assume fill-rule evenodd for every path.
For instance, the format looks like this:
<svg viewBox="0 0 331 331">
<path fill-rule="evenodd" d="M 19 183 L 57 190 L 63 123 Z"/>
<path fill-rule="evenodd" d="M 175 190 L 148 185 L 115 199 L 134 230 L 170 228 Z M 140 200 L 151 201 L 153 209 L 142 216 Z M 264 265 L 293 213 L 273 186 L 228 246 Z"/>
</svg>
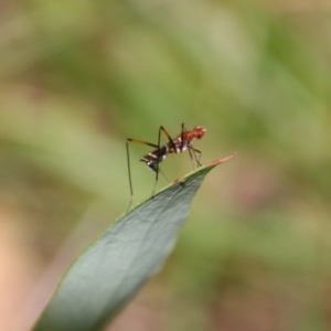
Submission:
<svg viewBox="0 0 331 331">
<path fill-rule="evenodd" d="M 154 181 L 154 185 L 153 185 L 153 190 L 152 190 L 152 196 L 153 196 L 156 186 L 158 183 L 158 179 L 159 179 L 159 173 L 161 173 L 162 177 L 166 179 L 166 181 L 169 182 L 159 167 L 159 163 L 164 161 L 164 159 L 167 158 L 168 154 L 181 153 L 188 149 L 193 168 L 194 168 L 194 161 L 197 164 L 197 167 L 201 167 L 201 163 L 200 163 L 201 151 L 193 147 L 193 140 L 201 139 L 204 136 L 205 131 L 206 131 L 206 129 L 203 127 L 194 127 L 192 129 L 192 131 L 188 131 L 184 124 L 182 124 L 181 132 L 174 139 L 172 139 L 170 137 L 170 135 L 168 134 L 168 131 L 162 126 L 160 126 L 158 145 L 138 140 L 138 139 L 132 139 L 132 138 L 127 139 L 127 143 L 126 143 L 127 161 L 128 161 L 128 174 L 129 174 L 129 184 L 130 184 L 130 194 L 131 194 L 128 210 L 131 206 L 132 196 L 134 196 L 131 169 L 130 169 L 130 156 L 129 156 L 129 142 L 141 143 L 141 145 L 146 145 L 146 146 L 150 146 L 150 147 L 154 148 L 151 152 L 142 156 L 139 160 L 141 162 L 145 162 L 146 166 L 156 173 L 156 181 Z M 168 138 L 168 142 L 162 146 L 160 146 L 161 132 L 163 132 L 166 135 L 166 137 Z M 199 158 L 196 157 L 196 153 L 199 154 Z"/>
</svg>

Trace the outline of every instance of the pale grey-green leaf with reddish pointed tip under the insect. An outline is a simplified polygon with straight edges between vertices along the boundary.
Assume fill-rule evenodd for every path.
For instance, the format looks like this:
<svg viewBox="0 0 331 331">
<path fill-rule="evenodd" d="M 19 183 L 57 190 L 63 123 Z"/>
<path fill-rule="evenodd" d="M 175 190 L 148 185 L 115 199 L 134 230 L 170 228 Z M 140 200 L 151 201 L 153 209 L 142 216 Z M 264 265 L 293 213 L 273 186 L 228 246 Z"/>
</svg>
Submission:
<svg viewBox="0 0 331 331">
<path fill-rule="evenodd" d="M 199 168 L 108 227 L 73 263 L 33 330 L 102 330 L 161 267 L 207 172 Z"/>
</svg>

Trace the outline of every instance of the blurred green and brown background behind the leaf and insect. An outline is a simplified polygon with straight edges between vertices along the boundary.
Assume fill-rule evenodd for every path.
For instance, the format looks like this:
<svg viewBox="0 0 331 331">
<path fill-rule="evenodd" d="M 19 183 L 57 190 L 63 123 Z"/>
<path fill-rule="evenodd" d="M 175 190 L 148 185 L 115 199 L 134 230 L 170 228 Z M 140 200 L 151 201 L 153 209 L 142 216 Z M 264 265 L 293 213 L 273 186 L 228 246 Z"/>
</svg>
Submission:
<svg viewBox="0 0 331 331">
<path fill-rule="evenodd" d="M 331 330 L 330 14 L 327 0 L 1 1 L 0 330 L 29 330 L 126 210 L 126 138 L 182 122 L 207 128 L 203 163 L 238 154 L 108 330 Z M 148 149 L 130 151 L 138 203 L 154 177 Z"/>
</svg>

